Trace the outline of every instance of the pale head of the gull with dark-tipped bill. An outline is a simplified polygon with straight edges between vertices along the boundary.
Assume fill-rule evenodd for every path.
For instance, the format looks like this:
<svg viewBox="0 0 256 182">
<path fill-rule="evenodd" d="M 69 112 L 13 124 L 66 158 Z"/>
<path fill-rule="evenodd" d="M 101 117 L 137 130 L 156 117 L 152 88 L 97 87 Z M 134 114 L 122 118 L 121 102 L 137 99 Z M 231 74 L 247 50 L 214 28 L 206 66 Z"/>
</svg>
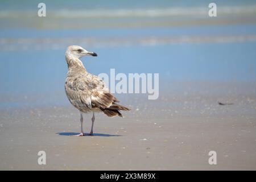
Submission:
<svg viewBox="0 0 256 182">
<path fill-rule="evenodd" d="M 79 59 L 82 56 L 97 56 L 97 53 L 89 52 L 80 46 L 69 46 L 66 51 L 66 56 Z"/>
</svg>

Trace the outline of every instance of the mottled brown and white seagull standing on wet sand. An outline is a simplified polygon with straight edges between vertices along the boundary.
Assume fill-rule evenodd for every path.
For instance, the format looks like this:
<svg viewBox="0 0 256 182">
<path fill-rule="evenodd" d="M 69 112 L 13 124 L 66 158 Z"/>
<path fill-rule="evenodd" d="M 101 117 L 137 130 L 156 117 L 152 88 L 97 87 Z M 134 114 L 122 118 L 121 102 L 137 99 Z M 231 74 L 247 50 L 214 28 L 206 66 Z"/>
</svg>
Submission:
<svg viewBox="0 0 256 182">
<path fill-rule="evenodd" d="M 82 56 L 97 56 L 97 54 L 86 51 L 80 46 L 69 46 L 65 53 L 65 59 L 68 64 L 65 92 L 71 104 L 80 111 L 81 133 L 72 135 L 76 137 L 85 135 L 82 129 L 84 113 L 92 112 L 92 127 L 89 135 L 93 135 L 94 113 L 103 112 L 108 117 L 114 117 L 115 115 L 122 117 L 119 110 L 130 110 L 127 107 L 116 104 L 119 101 L 106 88 L 105 82 L 100 77 L 86 71 L 80 60 Z"/>
</svg>

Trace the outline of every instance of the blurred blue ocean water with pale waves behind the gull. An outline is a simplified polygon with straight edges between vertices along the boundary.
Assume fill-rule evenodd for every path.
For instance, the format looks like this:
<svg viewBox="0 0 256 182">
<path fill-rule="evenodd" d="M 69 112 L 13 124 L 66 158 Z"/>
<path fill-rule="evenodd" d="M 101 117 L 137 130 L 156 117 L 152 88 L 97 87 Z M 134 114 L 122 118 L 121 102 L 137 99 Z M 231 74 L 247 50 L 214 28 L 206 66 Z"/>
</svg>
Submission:
<svg viewBox="0 0 256 182">
<path fill-rule="evenodd" d="M 0 107 L 67 105 L 65 49 L 89 72 L 159 73 L 167 82 L 256 82 L 256 1 L 0 2 Z M 171 86 L 171 84 L 170 84 Z"/>
</svg>

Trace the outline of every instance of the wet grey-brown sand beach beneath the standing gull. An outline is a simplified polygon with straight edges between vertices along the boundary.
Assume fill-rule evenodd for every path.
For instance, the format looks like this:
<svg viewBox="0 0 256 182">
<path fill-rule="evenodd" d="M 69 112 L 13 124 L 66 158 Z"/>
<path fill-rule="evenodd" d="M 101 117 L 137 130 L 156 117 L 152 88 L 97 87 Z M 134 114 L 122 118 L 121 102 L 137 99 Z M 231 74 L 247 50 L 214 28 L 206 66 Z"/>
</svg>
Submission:
<svg viewBox="0 0 256 182">
<path fill-rule="evenodd" d="M 69 136 L 80 131 L 72 106 L 2 109 L 0 169 L 255 170 L 255 88 L 188 85 L 180 87 L 183 92 L 165 89 L 156 101 L 122 96 L 122 104 L 133 110 L 123 113 L 125 118 L 96 114 L 92 137 Z M 85 115 L 86 133 L 90 117 Z M 46 165 L 38 165 L 41 150 Z M 208 163 L 212 150 L 217 165 Z"/>
</svg>

